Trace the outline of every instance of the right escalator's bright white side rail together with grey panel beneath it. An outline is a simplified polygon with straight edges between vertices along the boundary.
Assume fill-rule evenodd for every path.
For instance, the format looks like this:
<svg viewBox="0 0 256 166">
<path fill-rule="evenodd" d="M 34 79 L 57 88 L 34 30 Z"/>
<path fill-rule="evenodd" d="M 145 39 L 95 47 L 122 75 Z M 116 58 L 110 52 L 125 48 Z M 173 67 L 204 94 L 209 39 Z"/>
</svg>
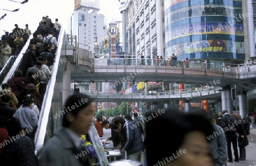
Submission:
<svg viewBox="0 0 256 166">
<path fill-rule="evenodd" d="M 57 130 L 57 118 L 54 118 L 56 111 L 62 110 L 62 79 L 64 63 L 60 63 L 61 47 L 65 42 L 65 31 L 60 30 L 58 46 L 56 50 L 55 63 L 53 64 L 52 76 L 48 82 L 44 101 L 38 120 L 38 129 L 35 134 L 35 155 L 39 156 L 43 149 L 44 142 L 51 138 Z"/>
</svg>

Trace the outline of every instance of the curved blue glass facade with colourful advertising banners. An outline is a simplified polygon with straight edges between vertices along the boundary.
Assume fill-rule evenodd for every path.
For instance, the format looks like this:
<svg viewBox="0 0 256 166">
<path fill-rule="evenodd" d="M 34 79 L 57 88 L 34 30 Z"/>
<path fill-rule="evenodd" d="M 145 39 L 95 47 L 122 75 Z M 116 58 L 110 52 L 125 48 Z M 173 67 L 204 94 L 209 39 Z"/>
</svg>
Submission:
<svg viewBox="0 0 256 166">
<path fill-rule="evenodd" d="M 242 1 L 164 1 L 167 57 L 245 59 Z"/>
</svg>

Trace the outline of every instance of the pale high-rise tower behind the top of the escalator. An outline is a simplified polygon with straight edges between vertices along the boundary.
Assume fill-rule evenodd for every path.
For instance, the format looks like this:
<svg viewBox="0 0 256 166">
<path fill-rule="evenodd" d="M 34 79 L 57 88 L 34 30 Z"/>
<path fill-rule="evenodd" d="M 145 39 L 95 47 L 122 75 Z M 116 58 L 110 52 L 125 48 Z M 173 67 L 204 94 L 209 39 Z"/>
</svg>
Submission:
<svg viewBox="0 0 256 166">
<path fill-rule="evenodd" d="M 100 0 L 75 0 L 69 34 L 77 35 L 80 48 L 93 51 L 94 43 L 106 38 L 105 16 L 99 10 Z"/>
</svg>

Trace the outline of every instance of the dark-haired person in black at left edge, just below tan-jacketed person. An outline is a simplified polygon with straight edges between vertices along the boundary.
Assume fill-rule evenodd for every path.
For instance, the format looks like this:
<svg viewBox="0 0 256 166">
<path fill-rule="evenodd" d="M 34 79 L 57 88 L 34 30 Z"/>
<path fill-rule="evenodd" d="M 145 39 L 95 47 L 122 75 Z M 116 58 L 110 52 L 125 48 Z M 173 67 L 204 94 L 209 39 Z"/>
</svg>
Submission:
<svg viewBox="0 0 256 166">
<path fill-rule="evenodd" d="M 15 113 L 13 107 L 8 105 L 11 98 L 9 95 L 5 94 L 1 96 L 1 99 L 2 102 L 0 103 L 0 116 L 10 119 L 11 117 L 13 117 L 13 114 Z"/>
</svg>

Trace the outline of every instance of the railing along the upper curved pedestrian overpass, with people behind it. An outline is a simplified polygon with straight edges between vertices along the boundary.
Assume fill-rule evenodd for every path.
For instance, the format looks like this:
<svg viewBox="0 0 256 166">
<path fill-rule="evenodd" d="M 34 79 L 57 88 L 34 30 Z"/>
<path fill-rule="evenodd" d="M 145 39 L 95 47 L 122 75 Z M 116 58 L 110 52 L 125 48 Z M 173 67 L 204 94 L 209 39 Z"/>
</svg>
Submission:
<svg viewBox="0 0 256 166">
<path fill-rule="evenodd" d="M 203 61 L 203 62 L 202 62 Z M 154 65 L 154 66 L 171 66 L 181 68 L 199 68 L 208 70 L 218 70 L 222 72 L 245 73 L 256 71 L 256 63 L 251 64 L 225 64 L 219 61 L 207 60 L 164 60 L 164 59 L 141 59 L 137 55 L 95 55 L 93 57 L 94 69 L 96 65 Z"/>
</svg>

